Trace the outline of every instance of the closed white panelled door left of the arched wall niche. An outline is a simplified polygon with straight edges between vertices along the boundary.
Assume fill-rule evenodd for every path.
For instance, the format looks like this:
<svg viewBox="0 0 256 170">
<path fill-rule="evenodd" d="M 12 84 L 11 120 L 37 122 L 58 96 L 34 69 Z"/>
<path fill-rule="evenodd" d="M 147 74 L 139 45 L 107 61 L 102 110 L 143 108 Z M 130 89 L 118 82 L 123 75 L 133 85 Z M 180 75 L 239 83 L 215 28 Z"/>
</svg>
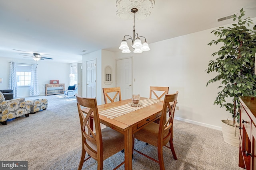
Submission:
<svg viewBox="0 0 256 170">
<path fill-rule="evenodd" d="M 86 61 L 86 97 L 96 98 L 96 59 Z"/>
</svg>

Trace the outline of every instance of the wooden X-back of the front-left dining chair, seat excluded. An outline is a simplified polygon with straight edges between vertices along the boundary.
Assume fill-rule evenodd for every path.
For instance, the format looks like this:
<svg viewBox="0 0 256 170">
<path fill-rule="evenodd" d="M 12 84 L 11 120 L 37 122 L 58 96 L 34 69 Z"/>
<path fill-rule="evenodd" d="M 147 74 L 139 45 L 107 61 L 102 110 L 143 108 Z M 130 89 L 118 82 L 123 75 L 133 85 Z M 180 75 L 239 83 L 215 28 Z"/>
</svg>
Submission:
<svg viewBox="0 0 256 170">
<path fill-rule="evenodd" d="M 81 131 L 82 131 L 83 149 L 86 150 L 86 152 L 88 153 L 88 155 L 90 155 L 90 157 L 94 158 L 97 161 L 102 160 L 100 162 L 103 162 L 102 134 L 100 129 L 100 119 L 98 114 L 96 98 L 83 98 L 76 94 L 76 103 L 78 107 L 78 113 L 79 113 L 79 119 L 80 119 Z M 88 112 L 86 113 L 86 116 L 82 112 L 81 106 L 88 108 Z M 94 127 L 96 131 L 95 134 L 93 133 L 93 129 L 90 128 L 90 123 L 91 123 L 90 116 L 92 115 L 92 113 L 94 117 Z M 88 141 L 90 141 L 90 143 L 95 144 L 97 146 L 97 150 L 92 149 L 89 146 Z"/>
</svg>

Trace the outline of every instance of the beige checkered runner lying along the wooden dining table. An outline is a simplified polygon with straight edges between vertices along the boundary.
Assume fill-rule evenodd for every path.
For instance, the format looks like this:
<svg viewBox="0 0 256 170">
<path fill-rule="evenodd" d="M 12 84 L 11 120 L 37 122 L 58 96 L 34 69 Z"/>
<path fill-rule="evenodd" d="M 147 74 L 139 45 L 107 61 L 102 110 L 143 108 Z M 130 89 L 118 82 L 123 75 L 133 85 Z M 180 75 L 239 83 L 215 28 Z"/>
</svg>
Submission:
<svg viewBox="0 0 256 170">
<path fill-rule="evenodd" d="M 132 111 L 141 109 L 143 107 L 150 106 L 152 104 L 158 103 L 160 101 L 162 101 L 162 100 L 144 99 L 144 100 L 140 100 L 140 103 L 142 104 L 142 107 L 133 107 L 133 106 L 130 106 L 130 104 L 126 104 L 126 105 L 122 105 L 122 106 L 118 106 L 118 107 L 113 107 L 111 109 L 106 109 L 106 110 L 99 111 L 99 115 L 108 117 L 109 119 L 113 119 L 115 117 L 124 115 L 126 113 L 130 113 Z"/>
</svg>

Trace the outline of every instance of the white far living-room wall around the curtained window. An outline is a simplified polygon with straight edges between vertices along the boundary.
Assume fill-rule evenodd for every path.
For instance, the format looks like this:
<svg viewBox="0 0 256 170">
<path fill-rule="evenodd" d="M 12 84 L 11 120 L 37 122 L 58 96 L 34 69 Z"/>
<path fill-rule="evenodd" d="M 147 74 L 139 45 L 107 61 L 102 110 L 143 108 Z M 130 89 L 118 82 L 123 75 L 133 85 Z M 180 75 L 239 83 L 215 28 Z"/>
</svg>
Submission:
<svg viewBox="0 0 256 170">
<path fill-rule="evenodd" d="M 10 59 L 6 57 L 0 57 L 0 78 L 3 78 L 4 82 L 0 84 L 0 89 L 8 89 L 9 81 L 9 69 L 10 63 L 26 63 L 35 64 L 36 62 L 31 60 L 22 59 Z M 40 96 L 45 96 L 45 84 L 49 84 L 50 80 L 59 80 L 59 83 L 65 84 L 65 89 L 69 85 L 69 64 L 55 63 L 54 61 L 38 61 L 38 81 Z M 18 97 L 29 96 L 29 87 L 18 87 Z M 64 96 L 64 95 L 63 95 Z"/>
</svg>

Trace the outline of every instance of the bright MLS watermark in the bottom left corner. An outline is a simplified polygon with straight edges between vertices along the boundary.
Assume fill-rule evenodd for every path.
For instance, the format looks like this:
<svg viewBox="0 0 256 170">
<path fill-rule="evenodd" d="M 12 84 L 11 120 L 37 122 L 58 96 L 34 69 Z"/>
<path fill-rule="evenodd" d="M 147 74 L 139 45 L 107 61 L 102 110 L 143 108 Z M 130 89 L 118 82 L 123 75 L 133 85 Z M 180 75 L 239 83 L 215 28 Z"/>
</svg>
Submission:
<svg viewBox="0 0 256 170">
<path fill-rule="evenodd" d="M 0 161 L 0 170 L 28 170 L 28 161 Z"/>
</svg>

